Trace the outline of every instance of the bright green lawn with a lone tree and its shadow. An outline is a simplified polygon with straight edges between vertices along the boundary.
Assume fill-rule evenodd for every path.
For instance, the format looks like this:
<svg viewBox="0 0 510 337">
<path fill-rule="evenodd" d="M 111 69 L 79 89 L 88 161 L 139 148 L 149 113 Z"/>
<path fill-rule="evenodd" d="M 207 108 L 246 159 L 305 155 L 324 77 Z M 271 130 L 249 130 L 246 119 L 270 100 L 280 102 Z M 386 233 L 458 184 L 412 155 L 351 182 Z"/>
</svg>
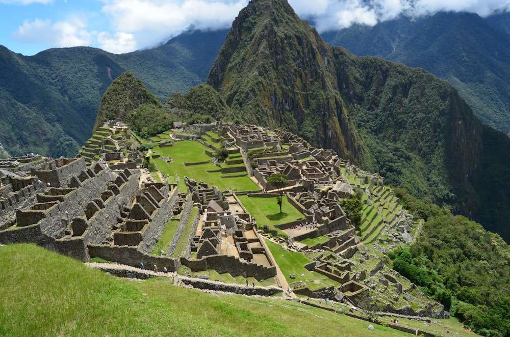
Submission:
<svg viewBox="0 0 510 337">
<path fill-rule="evenodd" d="M 288 223 L 304 216 L 287 201 L 287 196 L 283 197 L 282 213 L 276 203 L 276 197 L 250 198 L 247 195 L 238 195 L 238 198 L 251 216 L 255 217 L 259 228 L 267 224 L 269 229 L 275 230 L 275 224 Z"/>
</svg>

